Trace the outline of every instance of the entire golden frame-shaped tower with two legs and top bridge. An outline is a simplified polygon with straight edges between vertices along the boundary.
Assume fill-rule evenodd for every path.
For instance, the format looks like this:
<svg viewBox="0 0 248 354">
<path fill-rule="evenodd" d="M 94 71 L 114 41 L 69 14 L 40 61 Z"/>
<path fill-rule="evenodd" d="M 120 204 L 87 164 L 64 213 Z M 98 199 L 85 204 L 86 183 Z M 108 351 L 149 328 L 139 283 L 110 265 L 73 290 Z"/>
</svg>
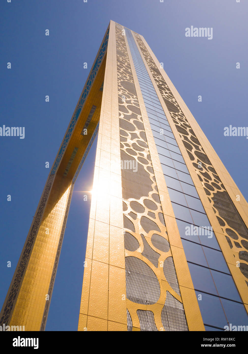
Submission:
<svg viewBox="0 0 248 354">
<path fill-rule="evenodd" d="M 45 330 L 73 185 L 97 132 L 78 330 L 248 325 L 247 202 L 145 39 L 113 21 L 48 176 L 0 325 Z"/>
</svg>

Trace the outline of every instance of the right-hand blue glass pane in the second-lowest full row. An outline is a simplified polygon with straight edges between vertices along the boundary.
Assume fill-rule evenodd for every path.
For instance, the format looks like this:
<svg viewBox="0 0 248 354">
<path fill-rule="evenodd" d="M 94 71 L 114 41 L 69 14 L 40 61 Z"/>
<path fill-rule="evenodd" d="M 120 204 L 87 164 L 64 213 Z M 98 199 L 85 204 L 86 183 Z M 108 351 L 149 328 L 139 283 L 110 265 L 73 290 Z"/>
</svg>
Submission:
<svg viewBox="0 0 248 354">
<path fill-rule="evenodd" d="M 231 300 L 241 301 L 231 275 L 220 273 L 215 270 L 211 270 L 211 273 L 213 275 L 219 296 L 227 297 Z"/>
</svg>

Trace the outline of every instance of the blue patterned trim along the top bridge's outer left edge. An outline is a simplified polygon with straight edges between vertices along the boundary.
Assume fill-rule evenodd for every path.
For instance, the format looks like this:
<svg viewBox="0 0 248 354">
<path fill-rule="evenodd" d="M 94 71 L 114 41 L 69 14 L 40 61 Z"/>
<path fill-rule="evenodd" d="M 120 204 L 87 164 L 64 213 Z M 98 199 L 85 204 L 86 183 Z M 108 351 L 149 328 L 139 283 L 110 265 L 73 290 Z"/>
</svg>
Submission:
<svg viewBox="0 0 248 354">
<path fill-rule="evenodd" d="M 88 96 L 88 93 L 89 93 L 89 91 L 91 89 L 92 82 L 93 82 L 93 80 L 94 80 L 94 78 L 95 78 L 95 76 L 97 74 L 97 71 L 98 71 L 98 69 L 100 67 L 100 64 L 102 62 L 102 59 L 104 57 L 104 54 L 105 54 L 105 51 L 106 51 L 106 48 L 107 48 L 107 45 L 108 45 L 108 39 L 109 39 L 109 30 L 108 30 L 108 33 L 106 34 L 106 37 L 105 37 L 104 42 L 103 42 L 103 45 L 102 45 L 102 47 L 100 49 L 100 52 L 99 52 L 99 55 L 97 57 L 96 63 L 93 66 L 93 69 L 92 69 L 90 77 L 89 77 L 89 79 L 87 81 L 86 87 L 83 90 L 81 99 L 79 101 L 79 104 L 77 105 L 76 111 L 75 111 L 75 113 L 73 115 L 73 119 L 71 120 L 71 124 L 70 124 L 70 126 L 69 126 L 69 128 L 67 130 L 66 136 L 64 138 L 62 147 L 60 148 L 58 156 L 57 156 L 57 159 L 54 162 L 54 165 L 53 165 L 53 168 L 52 168 L 52 171 L 51 171 L 51 175 L 56 173 L 57 168 L 59 166 L 59 163 L 60 163 L 60 161 L 62 159 L 62 156 L 63 156 L 63 154 L 65 152 L 67 144 L 68 144 L 68 142 L 70 140 L 71 133 L 73 132 L 74 126 L 76 124 L 76 121 L 79 118 L 79 115 L 81 113 L 82 106 L 85 103 L 86 97 Z"/>
</svg>

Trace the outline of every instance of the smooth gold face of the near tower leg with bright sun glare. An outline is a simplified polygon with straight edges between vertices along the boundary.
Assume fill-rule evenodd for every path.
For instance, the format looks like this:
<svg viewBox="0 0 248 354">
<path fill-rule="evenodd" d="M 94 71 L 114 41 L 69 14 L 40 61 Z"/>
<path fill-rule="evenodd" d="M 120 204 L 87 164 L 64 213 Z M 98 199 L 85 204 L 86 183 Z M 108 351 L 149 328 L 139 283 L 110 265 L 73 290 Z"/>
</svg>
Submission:
<svg viewBox="0 0 248 354">
<path fill-rule="evenodd" d="M 79 331 L 127 331 L 115 24 L 110 22 Z"/>
</svg>

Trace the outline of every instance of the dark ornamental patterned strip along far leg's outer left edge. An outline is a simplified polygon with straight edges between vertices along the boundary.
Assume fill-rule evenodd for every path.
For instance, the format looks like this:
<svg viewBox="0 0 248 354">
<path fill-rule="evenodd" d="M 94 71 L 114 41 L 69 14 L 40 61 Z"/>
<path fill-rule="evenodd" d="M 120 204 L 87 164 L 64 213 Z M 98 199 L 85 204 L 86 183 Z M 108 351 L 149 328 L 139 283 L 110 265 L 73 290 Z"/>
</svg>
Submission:
<svg viewBox="0 0 248 354">
<path fill-rule="evenodd" d="M 38 210 L 37 210 L 37 213 L 36 213 L 36 216 L 34 219 L 34 223 L 32 225 L 30 233 L 28 235 L 27 243 L 25 245 L 25 249 L 23 251 L 22 258 L 21 258 L 20 264 L 18 266 L 16 275 L 15 275 L 15 279 L 14 279 L 13 284 L 11 286 L 11 290 L 8 295 L 8 299 L 7 299 L 5 308 L 2 313 L 2 317 L 0 320 L 1 326 L 4 323 L 5 323 L 5 325 L 7 325 L 8 321 L 10 319 L 11 311 L 14 307 L 14 304 L 15 304 L 17 296 L 18 296 L 19 289 L 22 285 L 22 280 L 23 280 L 23 276 L 25 273 L 25 269 L 28 265 L 29 257 L 31 255 L 31 251 L 33 249 L 33 245 L 34 245 L 37 233 L 38 233 L 41 218 L 42 218 L 43 212 L 45 210 L 46 202 L 47 202 L 50 190 L 52 188 L 54 178 L 55 178 L 55 175 L 50 175 L 48 177 L 47 184 L 46 184 L 44 193 L 42 195 L 42 198 L 41 198 L 41 201 L 38 206 Z"/>
</svg>

